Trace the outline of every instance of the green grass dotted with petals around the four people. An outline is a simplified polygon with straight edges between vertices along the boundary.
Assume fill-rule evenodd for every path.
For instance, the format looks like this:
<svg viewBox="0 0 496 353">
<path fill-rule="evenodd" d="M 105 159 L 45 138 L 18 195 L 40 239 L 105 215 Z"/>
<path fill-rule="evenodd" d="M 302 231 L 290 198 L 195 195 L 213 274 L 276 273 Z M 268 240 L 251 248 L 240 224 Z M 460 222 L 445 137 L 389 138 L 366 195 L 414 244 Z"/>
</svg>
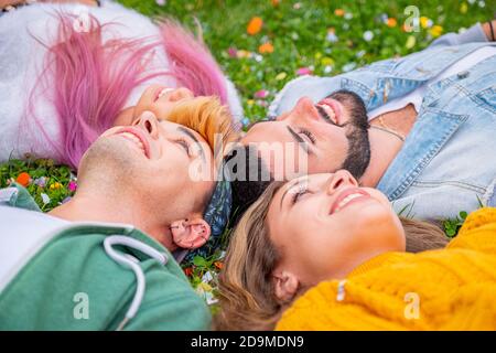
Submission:
<svg viewBox="0 0 496 353">
<path fill-rule="evenodd" d="M 483 1 L 453 0 L 281 0 L 277 6 L 270 0 L 170 0 L 165 6 L 151 0 L 120 2 L 147 15 L 173 15 L 194 31 L 197 21 L 205 42 L 242 96 L 245 124 L 266 116 L 267 105 L 287 82 L 298 76 L 299 68 L 310 68 L 315 75 L 335 75 L 378 60 L 403 56 L 429 45 L 436 30 L 456 32 L 492 19 L 496 9 L 496 0 L 486 0 L 484 7 Z M 408 6 L 417 6 L 420 15 L 430 19 L 430 28 L 414 33 L 402 31 Z M 263 26 L 258 34 L 249 35 L 247 24 L 254 17 L 260 17 Z M 391 25 L 387 24 L 388 18 L 393 19 L 389 21 Z M 328 40 L 331 29 L 336 41 Z M 373 33 L 369 41 L 364 39 L 367 31 Z M 273 45 L 273 52 L 260 54 L 259 46 L 267 42 Z M 260 90 L 266 90 L 267 96 L 258 98 L 256 94 Z M 37 184 L 40 178 L 46 178 L 45 186 L 33 182 L 29 185 L 43 211 L 50 211 L 73 194 L 68 190 L 74 179 L 69 169 L 47 160 L 10 161 L 0 165 L 0 186 L 15 180 L 21 172 L 28 172 Z M 456 220 L 444 222 L 446 235 L 456 234 L 463 216 L 466 214 L 462 212 Z M 216 254 L 208 259 L 196 258 L 185 270 L 200 292 L 215 296 L 219 267 L 222 254 Z"/>
</svg>

